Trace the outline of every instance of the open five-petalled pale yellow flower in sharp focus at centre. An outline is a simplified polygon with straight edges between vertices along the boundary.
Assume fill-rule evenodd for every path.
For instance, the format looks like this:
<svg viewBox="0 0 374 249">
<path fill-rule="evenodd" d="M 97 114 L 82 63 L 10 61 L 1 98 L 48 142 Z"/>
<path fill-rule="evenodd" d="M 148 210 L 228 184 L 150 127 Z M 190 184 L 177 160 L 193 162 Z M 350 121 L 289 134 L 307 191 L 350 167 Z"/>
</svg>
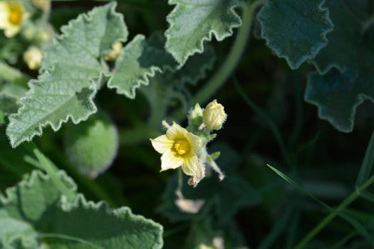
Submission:
<svg viewBox="0 0 374 249">
<path fill-rule="evenodd" d="M 150 140 L 155 150 L 162 154 L 161 171 L 182 166 L 188 176 L 200 178 L 204 175 L 204 167 L 198 157 L 202 151 L 200 137 L 173 122 L 165 135 Z"/>
</svg>

